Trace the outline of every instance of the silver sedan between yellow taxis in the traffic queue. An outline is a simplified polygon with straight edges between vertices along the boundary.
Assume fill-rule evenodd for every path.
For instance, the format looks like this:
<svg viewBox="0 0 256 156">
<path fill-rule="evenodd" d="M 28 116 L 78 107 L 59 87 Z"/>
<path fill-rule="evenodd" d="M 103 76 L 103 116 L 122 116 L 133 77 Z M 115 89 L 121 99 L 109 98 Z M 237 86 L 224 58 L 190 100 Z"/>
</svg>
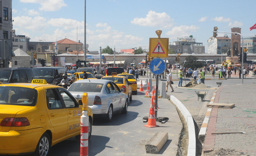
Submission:
<svg viewBox="0 0 256 156">
<path fill-rule="evenodd" d="M 88 103 L 93 116 L 104 117 L 107 122 L 112 119 L 113 113 L 127 113 L 128 97 L 119 87 L 110 80 L 82 79 L 74 82 L 68 91 L 77 99 L 82 99 L 82 94 L 87 92 Z"/>
</svg>

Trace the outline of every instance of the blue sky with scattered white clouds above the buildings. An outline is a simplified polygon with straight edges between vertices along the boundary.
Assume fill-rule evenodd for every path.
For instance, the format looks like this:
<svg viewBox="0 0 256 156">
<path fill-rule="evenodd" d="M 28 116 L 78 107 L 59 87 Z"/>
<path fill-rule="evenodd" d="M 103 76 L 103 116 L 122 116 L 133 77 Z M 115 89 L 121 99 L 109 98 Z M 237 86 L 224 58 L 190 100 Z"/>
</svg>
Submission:
<svg viewBox="0 0 256 156">
<path fill-rule="evenodd" d="M 13 29 L 30 41 L 55 42 L 65 37 L 84 43 L 85 0 L 12 0 Z M 208 52 L 207 40 L 218 31 L 241 27 L 243 37 L 256 35 L 255 0 L 86 0 L 86 43 L 100 47 L 149 49 L 149 38 L 169 42 L 193 35 Z M 218 34 L 224 36 L 225 34 Z M 230 36 L 230 34 L 228 34 Z"/>
</svg>

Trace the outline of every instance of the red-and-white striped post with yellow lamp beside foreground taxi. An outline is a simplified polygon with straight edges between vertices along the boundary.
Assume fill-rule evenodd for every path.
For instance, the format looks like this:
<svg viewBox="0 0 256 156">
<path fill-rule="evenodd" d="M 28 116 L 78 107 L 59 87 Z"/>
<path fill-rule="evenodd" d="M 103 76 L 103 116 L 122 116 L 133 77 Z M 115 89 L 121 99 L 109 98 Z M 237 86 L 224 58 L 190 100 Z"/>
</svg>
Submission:
<svg viewBox="0 0 256 156">
<path fill-rule="evenodd" d="M 81 116 L 81 144 L 80 156 L 88 156 L 88 126 L 89 117 L 87 116 L 87 93 L 82 94 L 82 116 Z"/>
</svg>

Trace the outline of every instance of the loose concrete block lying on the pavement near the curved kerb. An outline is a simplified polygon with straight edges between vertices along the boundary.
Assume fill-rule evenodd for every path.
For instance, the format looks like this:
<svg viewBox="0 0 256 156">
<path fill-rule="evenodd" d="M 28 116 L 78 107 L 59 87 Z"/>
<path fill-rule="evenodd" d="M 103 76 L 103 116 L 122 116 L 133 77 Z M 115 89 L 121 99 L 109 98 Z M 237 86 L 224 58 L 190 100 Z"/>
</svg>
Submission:
<svg viewBox="0 0 256 156">
<path fill-rule="evenodd" d="M 168 133 L 158 131 L 145 145 L 146 153 L 157 154 L 168 140 Z"/>
</svg>

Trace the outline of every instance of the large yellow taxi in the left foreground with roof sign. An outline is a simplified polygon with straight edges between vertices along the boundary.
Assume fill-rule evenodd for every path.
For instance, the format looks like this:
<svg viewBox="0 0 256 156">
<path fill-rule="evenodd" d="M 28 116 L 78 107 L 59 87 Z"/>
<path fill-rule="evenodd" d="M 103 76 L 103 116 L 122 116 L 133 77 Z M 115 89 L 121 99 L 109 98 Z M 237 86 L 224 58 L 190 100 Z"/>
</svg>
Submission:
<svg viewBox="0 0 256 156">
<path fill-rule="evenodd" d="M 44 79 L 0 85 L 0 155 L 47 156 L 55 144 L 80 138 L 81 104 Z M 87 108 L 90 138 L 93 115 Z"/>
</svg>

